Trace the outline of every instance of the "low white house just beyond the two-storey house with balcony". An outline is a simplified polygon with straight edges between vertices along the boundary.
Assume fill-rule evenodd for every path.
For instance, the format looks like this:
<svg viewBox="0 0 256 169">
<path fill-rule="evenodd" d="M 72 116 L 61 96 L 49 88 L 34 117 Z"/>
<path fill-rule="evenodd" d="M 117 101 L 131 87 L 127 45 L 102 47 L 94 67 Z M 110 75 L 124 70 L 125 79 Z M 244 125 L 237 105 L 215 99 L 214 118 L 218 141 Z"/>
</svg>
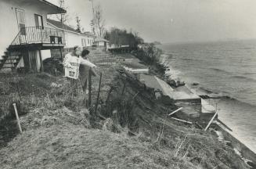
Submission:
<svg viewBox="0 0 256 169">
<path fill-rule="evenodd" d="M 79 45 L 82 47 L 90 47 L 94 43 L 94 38 L 96 36 L 93 34 L 90 34 L 88 32 L 80 33 L 77 30 L 75 30 L 73 27 L 70 27 L 56 20 L 48 19 L 47 24 L 49 27 L 64 31 L 65 39 L 66 39 L 65 48 L 72 48 L 75 45 Z"/>
</svg>

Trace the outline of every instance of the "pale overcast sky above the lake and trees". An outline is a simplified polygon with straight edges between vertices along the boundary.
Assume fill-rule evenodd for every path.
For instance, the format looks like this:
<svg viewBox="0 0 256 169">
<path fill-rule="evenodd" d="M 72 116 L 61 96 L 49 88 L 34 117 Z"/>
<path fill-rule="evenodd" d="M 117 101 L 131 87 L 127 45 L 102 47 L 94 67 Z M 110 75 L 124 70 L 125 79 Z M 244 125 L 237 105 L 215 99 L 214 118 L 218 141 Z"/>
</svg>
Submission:
<svg viewBox="0 0 256 169">
<path fill-rule="evenodd" d="M 49 0 L 56 4 L 58 0 Z M 70 23 L 75 16 L 90 31 L 92 3 L 65 0 Z M 94 0 L 106 27 L 138 31 L 146 41 L 218 41 L 256 38 L 256 0 Z"/>
</svg>

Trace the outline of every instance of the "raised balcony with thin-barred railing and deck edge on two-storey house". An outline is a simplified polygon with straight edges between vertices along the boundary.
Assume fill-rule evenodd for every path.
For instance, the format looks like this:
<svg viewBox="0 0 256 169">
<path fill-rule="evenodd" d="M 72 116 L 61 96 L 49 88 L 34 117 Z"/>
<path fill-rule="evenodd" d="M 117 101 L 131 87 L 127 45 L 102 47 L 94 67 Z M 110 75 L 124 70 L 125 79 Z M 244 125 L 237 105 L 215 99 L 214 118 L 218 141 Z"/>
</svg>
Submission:
<svg viewBox="0 0 256 169">
<path fill-rule="evenodd" d="M 65 44 L 64 31 L 48 27 L 23 27 L 9 45 L 9 50 L 59 49 Z"/>
</svg>

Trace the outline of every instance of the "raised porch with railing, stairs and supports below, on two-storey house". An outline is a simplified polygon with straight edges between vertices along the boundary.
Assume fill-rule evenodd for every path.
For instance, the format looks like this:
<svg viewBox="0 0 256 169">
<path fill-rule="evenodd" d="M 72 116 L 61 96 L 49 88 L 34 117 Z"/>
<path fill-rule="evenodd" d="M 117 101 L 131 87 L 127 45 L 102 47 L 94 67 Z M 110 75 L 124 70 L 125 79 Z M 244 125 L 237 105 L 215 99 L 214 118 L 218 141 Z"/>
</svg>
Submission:
<svg viewBox="0 0 256 169">
<path fill-rule="evenodd" d="M 64 31 L 48 27 L 20 28 L 20 32 L 5 52 L 4 59 L 1 60 L 0 69 L 15 70 L 19 68 L 25 72 L 43 71 L 41 51 L 58 49 L 62 56 L 65 44 Z"/>
</svg>

